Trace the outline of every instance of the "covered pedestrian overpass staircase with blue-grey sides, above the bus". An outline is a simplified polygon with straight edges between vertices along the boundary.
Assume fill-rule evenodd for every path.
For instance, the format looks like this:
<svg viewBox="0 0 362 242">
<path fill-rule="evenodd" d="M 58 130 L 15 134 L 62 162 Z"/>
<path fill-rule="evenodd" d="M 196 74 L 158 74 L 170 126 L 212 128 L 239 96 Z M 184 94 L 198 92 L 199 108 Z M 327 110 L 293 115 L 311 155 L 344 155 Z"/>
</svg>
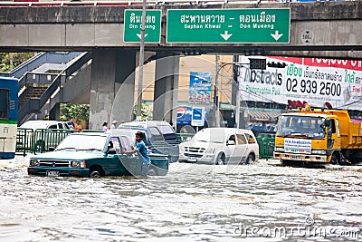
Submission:
<svg viewBox="0 0 362 242">
<path fill-rule="evenodd" d="M 70 79 L 79 72 L 76 68 L 79 69 L 80 62 L 88 61 L 90 53 L 37 53 L 11 72 L 0 73 L 0 76 L 19 79 L 18 123 L 43 119 L 54 106 L 48 105 L 46 108 L 50 109 L 46 110 L 43 103 L 52 100 L 54 93 L 62 87 L 59 80 Z"/>
</svg>

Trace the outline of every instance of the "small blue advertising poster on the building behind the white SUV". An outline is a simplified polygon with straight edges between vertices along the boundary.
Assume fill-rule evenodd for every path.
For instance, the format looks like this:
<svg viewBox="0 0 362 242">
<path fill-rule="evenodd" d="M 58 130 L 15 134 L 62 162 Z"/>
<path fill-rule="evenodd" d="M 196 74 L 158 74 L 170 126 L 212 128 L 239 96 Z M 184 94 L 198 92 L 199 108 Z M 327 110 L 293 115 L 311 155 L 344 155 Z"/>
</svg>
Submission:
<svg viewBox="0 0 362 242">
<path fill-rule="evenodd" d="M 190 72 L 189 103 L 210 103 L 212 73 Z"/>
</svg>

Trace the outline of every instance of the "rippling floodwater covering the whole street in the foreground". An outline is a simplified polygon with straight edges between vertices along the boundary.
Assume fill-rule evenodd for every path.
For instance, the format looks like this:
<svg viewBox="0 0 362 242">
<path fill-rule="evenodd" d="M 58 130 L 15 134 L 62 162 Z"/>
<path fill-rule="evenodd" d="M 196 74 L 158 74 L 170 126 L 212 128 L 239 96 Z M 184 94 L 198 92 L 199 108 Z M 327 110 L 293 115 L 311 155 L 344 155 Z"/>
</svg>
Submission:
<svg viewBox="0 0 362 242">
<path fill-rule="evenodd" d="M 28 176 L 1 161 L 0 241 L 362 241 L 362 166 L 170 165 L 166 177 Z"/>
</svg>

